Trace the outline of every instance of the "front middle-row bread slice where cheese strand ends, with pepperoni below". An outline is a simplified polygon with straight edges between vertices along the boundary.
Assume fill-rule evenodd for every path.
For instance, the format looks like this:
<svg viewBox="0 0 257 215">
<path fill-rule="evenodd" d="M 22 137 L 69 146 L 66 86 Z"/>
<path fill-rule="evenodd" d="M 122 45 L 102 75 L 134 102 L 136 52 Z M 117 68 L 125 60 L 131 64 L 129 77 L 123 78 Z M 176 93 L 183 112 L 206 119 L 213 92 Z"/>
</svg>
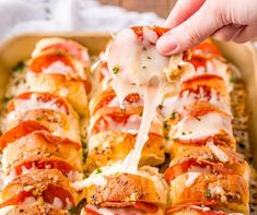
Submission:
<svg viewBox="0 0 257 215">
<path fill-rule="evenodd" d="M 97 207 L 135 207 L 156 213 L 165 206 L 167 187 L 157 169 L 145 166 L 137 174 L 126 174 L 119 171 L 118 165 L 102 167 L 73 187 L 83 190 L 87 204 Z"/>
</svg>

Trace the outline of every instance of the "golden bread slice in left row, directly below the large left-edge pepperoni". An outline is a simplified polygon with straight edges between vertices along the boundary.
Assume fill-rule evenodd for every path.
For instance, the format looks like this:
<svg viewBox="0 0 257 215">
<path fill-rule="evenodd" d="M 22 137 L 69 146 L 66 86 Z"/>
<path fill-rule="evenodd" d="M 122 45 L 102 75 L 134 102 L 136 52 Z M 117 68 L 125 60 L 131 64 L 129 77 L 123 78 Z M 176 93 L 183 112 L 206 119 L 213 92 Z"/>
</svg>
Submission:
<svg viewBox="0 0 257 215">
<path fill-rule="evenodd" d="M 12 166 L 32 157 L 56 156 L 65 159 L 78 171 L 82 170 L 81 150 L 69 140 L 50 140 L 47 132 L 34 132 L 9 144 L 3 150 L 3 170 L 10 171 Z"/>
</svg>

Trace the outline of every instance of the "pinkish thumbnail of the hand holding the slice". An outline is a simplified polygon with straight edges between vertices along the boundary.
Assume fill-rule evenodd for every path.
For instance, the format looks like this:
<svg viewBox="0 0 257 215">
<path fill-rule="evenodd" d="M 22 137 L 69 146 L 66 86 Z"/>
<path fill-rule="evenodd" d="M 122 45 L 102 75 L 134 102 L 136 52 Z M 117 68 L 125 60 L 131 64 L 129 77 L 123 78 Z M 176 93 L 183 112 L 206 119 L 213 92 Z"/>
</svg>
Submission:
<svg viewBox="0 0 257 215">
<path fill-rule="evenodd" d="M 157 40 L 157 50 L 165 56 L 172 55 L 176 49 L 177 44 L 171 35 L 164 35 Z"/>
</svg>

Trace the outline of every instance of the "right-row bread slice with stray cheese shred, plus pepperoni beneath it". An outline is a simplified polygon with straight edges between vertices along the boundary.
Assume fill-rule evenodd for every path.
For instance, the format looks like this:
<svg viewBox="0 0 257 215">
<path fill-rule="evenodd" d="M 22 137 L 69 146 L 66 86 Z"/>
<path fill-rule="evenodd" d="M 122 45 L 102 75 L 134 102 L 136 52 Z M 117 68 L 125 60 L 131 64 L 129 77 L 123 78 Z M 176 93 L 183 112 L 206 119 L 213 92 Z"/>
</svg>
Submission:
<svg viewBox="0 0 257 215">
<path fill-rule="evenodd" d="M 223 146 L 185 148 L 178 157 L 172 159 L 165 171 L 167 182 L 186 172 L 237 174 L 249 181 L 249 166 L 243 156 Z"/>
</svg>

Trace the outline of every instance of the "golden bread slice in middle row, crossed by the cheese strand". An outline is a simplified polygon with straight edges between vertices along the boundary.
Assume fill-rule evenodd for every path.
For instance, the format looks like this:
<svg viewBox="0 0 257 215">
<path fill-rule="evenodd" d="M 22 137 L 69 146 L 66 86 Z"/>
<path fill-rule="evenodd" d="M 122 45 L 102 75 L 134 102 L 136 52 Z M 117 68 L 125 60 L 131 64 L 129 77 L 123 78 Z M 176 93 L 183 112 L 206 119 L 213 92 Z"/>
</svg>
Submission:
<svg viewBox="0 0 257 215">
<path fill-rule="evenodd" d="M 86 169 L 94 170 L 101 166 L 124 159 L 132 150 L 136 135 L 119 131 L 106 131 L 93 135 L 89 142 L 89 155 Z M 94 145 L 91 148 L 90 144 Z M 150 133 L 145 143 L 140 166 L 156 166 L 164 162 L 164 139 L 160 135 Z"/>
</svg>

